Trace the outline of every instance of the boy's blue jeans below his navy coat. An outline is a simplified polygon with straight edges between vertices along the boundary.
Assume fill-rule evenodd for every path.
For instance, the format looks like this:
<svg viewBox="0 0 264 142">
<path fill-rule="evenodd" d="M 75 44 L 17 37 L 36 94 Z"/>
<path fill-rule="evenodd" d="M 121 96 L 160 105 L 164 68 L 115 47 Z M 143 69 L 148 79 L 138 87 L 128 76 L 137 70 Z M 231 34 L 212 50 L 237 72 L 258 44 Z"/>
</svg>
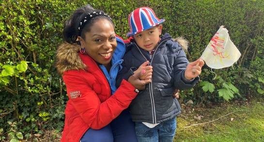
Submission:
<svg viewBox="0 0 264 142">
<path fill-rule="evenodd" d="M 176 118 L 164 121 L 154 128 L 136 122 L 135 130 L 139 142 L 172 142 L 176 132 Z"/>
</svg>

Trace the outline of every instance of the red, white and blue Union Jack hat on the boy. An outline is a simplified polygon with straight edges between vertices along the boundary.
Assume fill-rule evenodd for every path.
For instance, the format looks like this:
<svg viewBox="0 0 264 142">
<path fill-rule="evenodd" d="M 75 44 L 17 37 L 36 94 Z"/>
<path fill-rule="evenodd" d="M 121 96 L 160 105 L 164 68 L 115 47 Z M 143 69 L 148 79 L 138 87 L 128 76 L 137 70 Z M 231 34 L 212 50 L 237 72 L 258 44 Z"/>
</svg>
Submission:
<svg viewBox="0 0 264 142">
<path fill-rule="evenodd" d="M 130 32 L 128 32 L 126 36 L 132 36 L 164 21 L 165 19 L 158 19 L 151 8 L 140 7 L 134 10 L 128 17 Z"/>
</svg>

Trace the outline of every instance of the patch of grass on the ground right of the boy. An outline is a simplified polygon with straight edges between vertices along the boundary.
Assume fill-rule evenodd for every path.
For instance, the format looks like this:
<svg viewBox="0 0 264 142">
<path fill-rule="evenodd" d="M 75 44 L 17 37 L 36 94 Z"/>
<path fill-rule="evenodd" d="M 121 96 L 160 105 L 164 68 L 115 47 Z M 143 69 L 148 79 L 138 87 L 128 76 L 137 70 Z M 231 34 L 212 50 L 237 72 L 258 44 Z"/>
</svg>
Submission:
<svg viewBox="0 0 264 142">
<path fill-rule="evenodd" d="M 264 142 L 264 99 L 208 108 L 183 106 L 173 142 Z M 201 116 L 201 120 L 194 119 Z"/>
</svg>

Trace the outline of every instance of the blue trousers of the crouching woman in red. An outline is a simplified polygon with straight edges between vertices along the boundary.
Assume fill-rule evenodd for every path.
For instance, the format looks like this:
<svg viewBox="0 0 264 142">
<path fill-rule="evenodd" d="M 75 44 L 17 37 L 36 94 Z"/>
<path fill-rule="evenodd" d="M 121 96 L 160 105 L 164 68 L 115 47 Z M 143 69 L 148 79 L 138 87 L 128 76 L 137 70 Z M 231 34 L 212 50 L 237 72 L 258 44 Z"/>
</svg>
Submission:
<svg viewBox="0 0 264 142">
<path fill-rule="evenodd" d="M 138 142 L 135 123 L 128 109 L 125 109 L 109 125 L 101 129 L 89 128 L 80 142 Z"/>
</svg>

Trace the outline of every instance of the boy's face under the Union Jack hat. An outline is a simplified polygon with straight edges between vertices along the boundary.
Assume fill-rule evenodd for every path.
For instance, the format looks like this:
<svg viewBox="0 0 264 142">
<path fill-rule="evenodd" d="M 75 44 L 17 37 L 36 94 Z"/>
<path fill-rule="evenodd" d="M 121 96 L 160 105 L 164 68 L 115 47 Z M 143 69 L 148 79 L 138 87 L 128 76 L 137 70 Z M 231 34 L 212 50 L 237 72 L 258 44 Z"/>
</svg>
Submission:
<svg viewBox="0 0 264 142">
<path fill-rule="evenodd" d="M 161 35 L 162 25 L 158 25 L 146 30 L 143 30 L 134 35 L 134 39 L 140 48 L 147 51 L 154 50 L 159 42 L 159 36 Z"/>
</svg>

